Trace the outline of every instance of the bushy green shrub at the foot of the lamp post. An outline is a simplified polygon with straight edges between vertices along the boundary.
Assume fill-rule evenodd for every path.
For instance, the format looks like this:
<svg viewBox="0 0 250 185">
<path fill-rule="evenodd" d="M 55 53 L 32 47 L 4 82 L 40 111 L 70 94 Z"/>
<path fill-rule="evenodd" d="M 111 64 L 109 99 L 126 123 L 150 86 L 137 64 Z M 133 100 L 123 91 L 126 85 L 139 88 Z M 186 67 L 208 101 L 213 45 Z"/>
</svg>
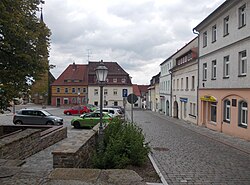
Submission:
<svg viewBox="0 0 250 185">
<path fill-rule="evenodd" d="M 114 120 L 99 141 L 92 162 L 101 169 L 124 168 L 127 165 L 141 166 L 150 151 L 142 129 L 133 123 Z"/>
</svg>

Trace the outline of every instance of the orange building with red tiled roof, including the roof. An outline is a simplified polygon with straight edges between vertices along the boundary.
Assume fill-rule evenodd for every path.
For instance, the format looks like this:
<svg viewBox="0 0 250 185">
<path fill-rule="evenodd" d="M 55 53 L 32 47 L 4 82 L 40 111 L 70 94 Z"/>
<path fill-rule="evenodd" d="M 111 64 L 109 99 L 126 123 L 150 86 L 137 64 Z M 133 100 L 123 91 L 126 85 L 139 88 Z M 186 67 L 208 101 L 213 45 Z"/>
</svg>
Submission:
<svg viewBox="0 0 250 185">
<path fill-rule="evenodd" d="M 70 64 L 51 85 L 51 105 L 68 106 L 88 102 L 88 65 Z"/>
</svg>

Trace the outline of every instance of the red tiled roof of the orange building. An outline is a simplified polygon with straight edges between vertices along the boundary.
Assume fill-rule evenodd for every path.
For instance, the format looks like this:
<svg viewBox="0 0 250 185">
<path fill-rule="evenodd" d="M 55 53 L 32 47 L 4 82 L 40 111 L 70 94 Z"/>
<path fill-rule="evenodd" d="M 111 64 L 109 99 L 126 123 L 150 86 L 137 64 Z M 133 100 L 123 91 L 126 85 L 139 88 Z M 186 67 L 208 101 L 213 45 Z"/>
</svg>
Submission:
<svg viewBox="0 0 250 185">
<path fill-rule="evenodd" d="M 88 85 L 88 65 L 70 64 L 52 85 Z"/>
</svg>

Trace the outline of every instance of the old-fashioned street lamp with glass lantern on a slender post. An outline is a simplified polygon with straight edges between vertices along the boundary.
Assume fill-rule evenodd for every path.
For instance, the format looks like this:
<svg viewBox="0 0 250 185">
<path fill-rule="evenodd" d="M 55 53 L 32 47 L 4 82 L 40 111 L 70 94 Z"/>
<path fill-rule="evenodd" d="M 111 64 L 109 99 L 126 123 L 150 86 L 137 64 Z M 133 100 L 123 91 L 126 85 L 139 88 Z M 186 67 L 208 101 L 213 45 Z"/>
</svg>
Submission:
<svg viewBox="0 0 250 185">
<path fill-rule="evenodd" d="M 98 84 L 100 86 L 100 127 L 99 134 L 102 134 L 103 125 L 102 125 L 102 107 L 103 107 L 103 86 L 105 85 L 107 76 L 108 76 L 108 68 L 104 65 L 103 61 L 100 61 L 99 66 L 95 69 L 96 78 Z"/>
</svg>

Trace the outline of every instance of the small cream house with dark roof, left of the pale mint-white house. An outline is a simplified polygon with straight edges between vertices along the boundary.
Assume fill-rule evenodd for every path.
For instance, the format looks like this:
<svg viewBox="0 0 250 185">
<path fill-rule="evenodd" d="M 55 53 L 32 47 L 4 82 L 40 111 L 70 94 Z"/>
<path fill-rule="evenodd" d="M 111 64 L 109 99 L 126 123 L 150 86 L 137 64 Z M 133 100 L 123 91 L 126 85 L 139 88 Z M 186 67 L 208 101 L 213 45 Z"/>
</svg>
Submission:
<svg viewBox="0 0 250 185">
<path fill-rule="evenodd" d="M 160 110 L 160 91 L 159 91 L 159 81 L 160 81 L 160 74 L 153 76 L 150 80 L 150 86 L 148 87 L 148 109 L 152 111 L 159 111 Z"/>
</svg>

